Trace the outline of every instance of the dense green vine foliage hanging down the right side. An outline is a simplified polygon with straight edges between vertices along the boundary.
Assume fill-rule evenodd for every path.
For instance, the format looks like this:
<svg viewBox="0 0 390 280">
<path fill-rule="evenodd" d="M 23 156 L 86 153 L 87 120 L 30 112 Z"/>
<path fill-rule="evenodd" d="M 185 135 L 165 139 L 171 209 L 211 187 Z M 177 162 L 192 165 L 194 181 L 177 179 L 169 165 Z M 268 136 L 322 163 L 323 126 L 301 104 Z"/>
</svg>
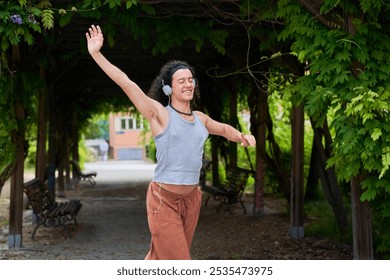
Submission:
<svg viewBox="0 0 390 280">
<path fill-rule="evenodd" d="M 340 181 L 363 176 L 361 199 L 375 205 L 374 215 L 386 225 L 390 5 L 374 0 L 318 1 L 318 13 L 313 14 L 301 3 L 279 1 L 277 12 L 286 22 L 279 38 L 292 40 L 292 51 L 308 65 L 294 92 L 319 125 L 333 114 L 333 155 L 328 166 L 336 168 Z M 388 253 L 390 239 L 383 235 L 386 226 L 381 228 L 377 248 Z"/>
</svg>

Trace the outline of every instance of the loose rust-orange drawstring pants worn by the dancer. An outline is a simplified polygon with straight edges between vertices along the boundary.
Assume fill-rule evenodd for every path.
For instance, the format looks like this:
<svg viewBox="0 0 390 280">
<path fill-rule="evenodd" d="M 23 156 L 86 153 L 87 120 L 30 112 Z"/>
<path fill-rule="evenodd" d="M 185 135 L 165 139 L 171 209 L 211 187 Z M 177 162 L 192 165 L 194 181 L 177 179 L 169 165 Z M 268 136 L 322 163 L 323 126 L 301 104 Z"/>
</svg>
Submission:
<svg viewBox="0 0 390 280">
<path fill-rule="evenodd" d="M 149 184 L 146 211 L 152 236 L 145 260 L 189 260 L 198 224 L 202 193 L 199 188 L 185 194 Z"/>
</svg>

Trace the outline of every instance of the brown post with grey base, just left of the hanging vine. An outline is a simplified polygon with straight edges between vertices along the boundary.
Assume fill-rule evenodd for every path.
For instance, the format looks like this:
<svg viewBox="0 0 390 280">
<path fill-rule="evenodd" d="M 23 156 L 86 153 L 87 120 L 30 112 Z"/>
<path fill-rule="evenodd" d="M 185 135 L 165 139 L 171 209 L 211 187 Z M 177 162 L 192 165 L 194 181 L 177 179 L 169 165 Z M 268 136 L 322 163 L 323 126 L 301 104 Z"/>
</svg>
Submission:
<svg viewBox="0 0 390 280">
<path fill-rule="evenodd" d="M 303 135 L 304 112 L 303 106 L 293 108 L 292 117 L 292 163 L 291 163 L 291 224 L 290 236 L 294 239 L 304 237 L 303 227 Z"/>
</svg>

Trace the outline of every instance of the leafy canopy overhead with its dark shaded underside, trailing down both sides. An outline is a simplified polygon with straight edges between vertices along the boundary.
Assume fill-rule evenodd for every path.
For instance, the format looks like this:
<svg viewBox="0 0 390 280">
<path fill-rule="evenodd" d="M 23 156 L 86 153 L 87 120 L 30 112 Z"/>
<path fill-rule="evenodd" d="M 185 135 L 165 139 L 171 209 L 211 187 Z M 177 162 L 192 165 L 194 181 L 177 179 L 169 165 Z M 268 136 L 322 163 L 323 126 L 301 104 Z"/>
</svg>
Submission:
<svg viewBox="0 0 390 280">
<path fill-rule="evenodd" d="M 103 52 L 145 91 L 167 60 L 185 59 L 211 115 L 221 115 L 218 93 L 229 96 L 241 80 L 290 96 L 314 129 L 329 122 L 327 169 L 341 183 L 359 178 L 376 247 L 388 253 L 389 10 L 380 0 L 1 1 L 0 166 L 14 162 L 18 133 L 37 124 L 42 93 L 62 127 L 128 106 L 86 53 L 84 34 L 100 24 Z"/>
</svg>

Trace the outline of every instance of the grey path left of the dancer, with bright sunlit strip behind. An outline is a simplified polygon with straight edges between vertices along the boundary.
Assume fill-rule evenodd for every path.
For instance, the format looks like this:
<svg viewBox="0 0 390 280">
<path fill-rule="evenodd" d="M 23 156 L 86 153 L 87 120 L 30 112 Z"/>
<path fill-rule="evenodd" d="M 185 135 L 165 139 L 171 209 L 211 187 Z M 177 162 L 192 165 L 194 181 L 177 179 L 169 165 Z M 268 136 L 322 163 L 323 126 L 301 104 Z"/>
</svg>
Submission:
<svg viewBox="0 0 390 280">
<path fill-rule="evenodd" d="M 61 228 L 42 228 L 30 239 L 31 210 L 24 213 L 23 248 L 7 251 L 8 229 L 0 227 L 0 259 L 143 259 L 148 231 L 145 194 L 155 164 L 149 161 L 97 161 L 85 163 L 83 171 L 96 171 L 96 187 L 88 183 L 66 191 L 65 199 L 82 200 L 78 227 L 71 240 Z M 32 175 L 26 175 L 25 181 Z M 60 199 L 58 199 L 60 200 Z M 9 203 L 9 182 L 1 194 Z M 1 253 L 3 252 L 3 253 Z"/>
</svg>

